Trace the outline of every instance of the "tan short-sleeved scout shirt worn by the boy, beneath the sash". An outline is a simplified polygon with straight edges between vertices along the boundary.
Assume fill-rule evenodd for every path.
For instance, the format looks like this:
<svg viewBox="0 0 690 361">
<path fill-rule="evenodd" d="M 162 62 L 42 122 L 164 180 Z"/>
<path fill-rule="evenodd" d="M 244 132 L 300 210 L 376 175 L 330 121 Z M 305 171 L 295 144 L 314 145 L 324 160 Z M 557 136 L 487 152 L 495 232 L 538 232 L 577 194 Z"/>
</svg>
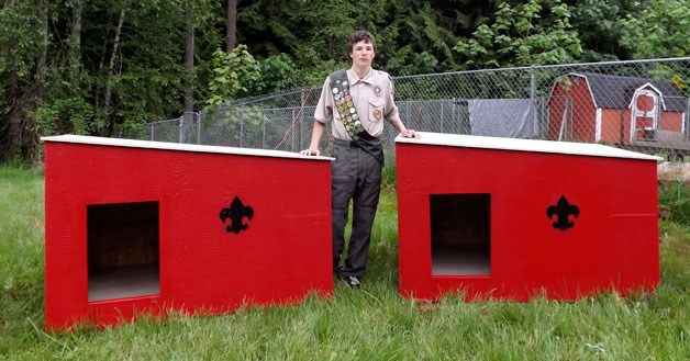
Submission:
<svg viewBox="0 0 690 361">
<path fill-rule="evenodd" d="M 398 106 L 393 101 L 393 83 L 387 72 L 371 69 L 369 74 L 359 79 L 355 70 L 347 70 L 347 82 L 349 93 L 353 97 L 357 114 L 361 125 L 370 135 L 378 137 L 383 133 L 383 120 L 388 122 L 400 121 Z M 333 137 L 342 140 L 352 140 L 345 131 L 337 111 L 333 111 L 333 90 L 331 89 L 331 77 L 326 78 L 321 90 L 321 98 L 316 104 L 314 119 L 321 123 L 332 122 L 331 132 Z"/>
</svg>

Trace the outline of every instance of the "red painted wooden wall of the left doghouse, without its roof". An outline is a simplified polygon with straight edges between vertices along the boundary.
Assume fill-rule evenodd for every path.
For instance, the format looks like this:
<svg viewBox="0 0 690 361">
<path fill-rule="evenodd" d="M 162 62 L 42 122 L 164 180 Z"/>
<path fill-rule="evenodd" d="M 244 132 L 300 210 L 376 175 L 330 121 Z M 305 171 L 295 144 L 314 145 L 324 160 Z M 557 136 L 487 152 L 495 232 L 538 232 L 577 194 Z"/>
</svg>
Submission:
<svg viewBox="0 0 690 361">
<path fill-rule="evenodd" d="M 47 329 L 113 325 L 140 312 L 218 314 L 245 304 L 292 304 L 311 292 L 332 293 L 329 158 L 49 139 Z M 220 218 L 235 196 L 254 210 L 252 219 L 244 219 L 248 228 L 238 234 L 226 232 L 227 222 Z M 89 303 L 87 206 L 146 201 L 159 202 L 160 293 Z"/>
</svg>

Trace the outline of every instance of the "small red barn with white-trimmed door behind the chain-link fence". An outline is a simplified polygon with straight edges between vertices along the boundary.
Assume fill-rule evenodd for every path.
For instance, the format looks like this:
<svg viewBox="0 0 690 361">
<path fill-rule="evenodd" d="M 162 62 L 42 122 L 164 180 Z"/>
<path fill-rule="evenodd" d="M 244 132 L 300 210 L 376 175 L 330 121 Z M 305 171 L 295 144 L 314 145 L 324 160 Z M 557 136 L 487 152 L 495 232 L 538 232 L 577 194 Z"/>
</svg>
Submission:
<svg viewBox="0 0 690 361">
<path fill-rule="evenodd" d="M 552 89 L 548 138 L 690 150 L 688 99 L 667 80 L 569 74 Z"/>
</svg>

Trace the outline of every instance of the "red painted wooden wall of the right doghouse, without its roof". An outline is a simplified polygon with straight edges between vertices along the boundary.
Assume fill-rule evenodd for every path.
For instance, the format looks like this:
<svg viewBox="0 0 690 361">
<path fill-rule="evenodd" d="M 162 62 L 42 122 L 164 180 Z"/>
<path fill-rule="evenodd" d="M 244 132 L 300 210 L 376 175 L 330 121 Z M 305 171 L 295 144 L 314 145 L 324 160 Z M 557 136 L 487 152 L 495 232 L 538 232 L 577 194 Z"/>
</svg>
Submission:
<svg viewBox="0 0 690 361">
<path fill-rule="evenodd" d="M 575 300 L 599 291 L 650 292 L 659 282 L 656 161 L 424 138 L 396 144 L 403 296 Z M 490 274 L 432 275 L 430 195 L 472 193 L 490 194 Z M 580 211 L 567 230 L 546 215 L 561 195 Z"/>
</svg>

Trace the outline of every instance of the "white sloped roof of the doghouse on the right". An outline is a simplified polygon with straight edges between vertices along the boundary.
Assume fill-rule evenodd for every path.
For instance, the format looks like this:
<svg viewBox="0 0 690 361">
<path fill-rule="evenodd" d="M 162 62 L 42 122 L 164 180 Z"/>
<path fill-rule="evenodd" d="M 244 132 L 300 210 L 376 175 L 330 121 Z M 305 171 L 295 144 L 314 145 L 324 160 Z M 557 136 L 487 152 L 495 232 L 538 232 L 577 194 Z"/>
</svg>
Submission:
<svg viewBox="0 0 690 361">
<path fill-rule="evenodd" d="M 404 138 L 399 135 L 398 137 L 396 137 L 396 143 L 437 145 L 437 146 L 465 147 L 465 148 L 499 149 L 499 150 L 552 153 L 552 154 L 566 154 L 566 155 L 593 156 L 593 157 L 645 159 L 645 160 L 655 160 L 655 161 L 663 160 L 663 158 L 660 157 L 619 149 L 619 148 L 614 148 L 614 147 L 610 147 L 610 146 L 605 146 L 601 144 L 592 144 L 592 143 L 516 139 L 516 138 L 487 137 L 487 136 L 476 136 L 476 135 L 426 133 L 426 132 L 418 132 L 418 134 L 421 135 L 420 138 Z"/>
</svg>

